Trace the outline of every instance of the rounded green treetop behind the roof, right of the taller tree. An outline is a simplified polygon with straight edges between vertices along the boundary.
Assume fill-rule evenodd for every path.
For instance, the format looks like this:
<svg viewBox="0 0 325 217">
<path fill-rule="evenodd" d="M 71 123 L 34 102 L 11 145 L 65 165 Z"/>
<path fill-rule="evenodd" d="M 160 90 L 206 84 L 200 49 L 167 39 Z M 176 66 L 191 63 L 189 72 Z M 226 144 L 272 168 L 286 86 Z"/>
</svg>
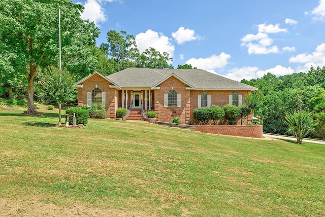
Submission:
<svg viewBox="0 0 325 217">
<path fill-rule="evenodd" d="M 161 54 L 154 48 L 148 48 L 137 58 L 136 64 L 139 68 L 173 68 L 170 61 L 173 58 L 167 52 Z"/>
</svg>

